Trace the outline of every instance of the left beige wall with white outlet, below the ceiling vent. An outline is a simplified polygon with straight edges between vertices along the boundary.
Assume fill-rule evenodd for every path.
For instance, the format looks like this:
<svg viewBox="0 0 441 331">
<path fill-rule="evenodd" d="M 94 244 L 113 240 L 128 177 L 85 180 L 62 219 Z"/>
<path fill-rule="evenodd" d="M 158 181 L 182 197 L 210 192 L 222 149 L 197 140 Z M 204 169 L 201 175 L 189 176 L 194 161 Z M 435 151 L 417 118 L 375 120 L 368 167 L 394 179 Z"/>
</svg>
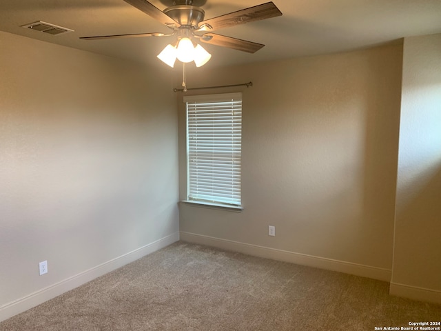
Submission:
<svg viewBox="0 0 441 331">
<path fill-rule="evenodd" d="M 164 76 L 0 32 L 0 310 L 177 237 L 176 102 Z"/>
</svg>

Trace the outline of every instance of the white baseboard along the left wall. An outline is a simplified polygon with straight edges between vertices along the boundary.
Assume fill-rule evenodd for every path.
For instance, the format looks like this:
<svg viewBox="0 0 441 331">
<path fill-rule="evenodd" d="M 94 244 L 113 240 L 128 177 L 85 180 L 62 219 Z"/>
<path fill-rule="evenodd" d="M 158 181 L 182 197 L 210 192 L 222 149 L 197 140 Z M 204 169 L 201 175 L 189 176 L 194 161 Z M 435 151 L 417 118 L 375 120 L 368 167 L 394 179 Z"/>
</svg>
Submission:
<svg viewBox="0 0 441 331">
<path fill-rule="evenodd" d="M 43 288 L 37 292 L 29 294 L 26 297 L 6 303 L 6 305 L 2 305 L 0 307 L 0 322 L 54 297 L 58 297 L 60 294 L 68 292 L 80 285 L 83 285 L 84 283 L 87 283 L 88 281 L 92 281 L 97 277 L 103 276 L 103 274 L 107 274 L 107 272 L 121 268 L 127 263 L 141 259 L 141 257 L 144 257 L 147 254 L 151 254 L 152 252 L 156 252 L 156 250 L 165 248 L 178 240 L 179 232 L 174 232 L 167 237 L 154 241 L 153 243 L 149 243 L 141 248 L 133 250 L 132 252 L 128 252 L 127 254 L 123 254 L 121 257 L 116 257 L 115 259 L 100 265 L 96 265 L 96 267 L 92 269 L 86 270 L 80 274 L 76 274 L 75 276 L 60 281 L 59 283 L 55 283 L 47 288 Z"/>
</svg>

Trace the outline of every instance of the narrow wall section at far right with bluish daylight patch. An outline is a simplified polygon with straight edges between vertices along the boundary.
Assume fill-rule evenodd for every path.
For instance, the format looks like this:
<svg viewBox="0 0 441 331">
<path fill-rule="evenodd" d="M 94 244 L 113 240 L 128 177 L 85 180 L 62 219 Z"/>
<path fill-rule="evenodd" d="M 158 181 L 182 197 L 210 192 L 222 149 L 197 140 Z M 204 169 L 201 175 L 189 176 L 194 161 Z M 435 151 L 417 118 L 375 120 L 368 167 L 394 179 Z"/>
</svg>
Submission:
<svg viewBox="0 0 441 331">
<path fill-rule="evenodd" d="M 441 34 L 404 39 L 402 72 L 391 292 L 441 303 Z"/>
</svg>

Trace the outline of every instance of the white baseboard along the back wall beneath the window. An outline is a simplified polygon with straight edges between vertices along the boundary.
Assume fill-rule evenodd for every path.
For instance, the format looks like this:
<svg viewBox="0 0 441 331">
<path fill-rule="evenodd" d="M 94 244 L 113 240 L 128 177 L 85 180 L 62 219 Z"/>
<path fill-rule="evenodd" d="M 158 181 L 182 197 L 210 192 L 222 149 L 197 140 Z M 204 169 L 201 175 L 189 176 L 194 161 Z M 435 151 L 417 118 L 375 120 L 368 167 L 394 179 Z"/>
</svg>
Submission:
<svg viewBox="0 0 441 331">
<path fill-rule="evenodd" d="M 207 237 L 201 234 L 194 234 L 181 231 L 181 240 L 191 243 L 199 243 L 201 245 L 209 245 L 223 250 L 233 250 L 256 257 L 265 257 L 309 267 L 344 272 L 346 274 L 354 274 L 356 276 L 378 279 L 380 281 L 391 281 L 391 270 L 371 267 L 369 265 L 361 265 L 334 259 L 326 259 L 323 257 L 314 257 L 312 255 L 289 252 L 286 250 L 277 250 L 259 245 L 251 245 L 249 243 L 240 243 L 226 239 L 218 239 Z"/>
</svg>

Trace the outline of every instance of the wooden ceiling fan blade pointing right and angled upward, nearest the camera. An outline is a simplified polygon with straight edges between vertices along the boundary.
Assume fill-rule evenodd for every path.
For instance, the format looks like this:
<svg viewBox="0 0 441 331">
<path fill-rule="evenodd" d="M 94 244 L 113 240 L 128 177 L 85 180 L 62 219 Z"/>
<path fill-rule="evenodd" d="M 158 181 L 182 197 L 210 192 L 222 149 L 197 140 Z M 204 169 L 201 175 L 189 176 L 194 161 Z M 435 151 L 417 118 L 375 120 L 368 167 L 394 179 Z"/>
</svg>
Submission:
<svg viewBox="0 0 441 331">
<path fill-rule="evenodd" d="M 277 17 L 280 15 L 282 15 L 282 12 L 280 12 L 276 5 L 270 1 L 258 6 L 207 19 L 199 23 L 199 26 L 201 27 L 201 30 L 218 30 L 221 28 L 228 28 L 229 26 L 236 26 L 238 24 L 260 21 L 261 19 L 270 19 L 271 17 Z"/>
</svg>

